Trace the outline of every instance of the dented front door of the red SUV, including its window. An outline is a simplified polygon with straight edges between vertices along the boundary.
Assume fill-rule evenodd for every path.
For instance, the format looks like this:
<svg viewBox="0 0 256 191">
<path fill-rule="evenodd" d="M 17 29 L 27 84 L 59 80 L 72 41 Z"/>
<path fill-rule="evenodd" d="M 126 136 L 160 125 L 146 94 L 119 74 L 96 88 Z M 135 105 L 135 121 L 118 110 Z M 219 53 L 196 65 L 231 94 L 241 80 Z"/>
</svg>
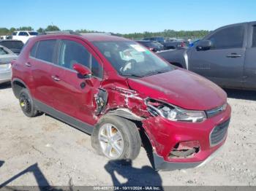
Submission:
<svg viewBox="0 0 256 191">
<path fill-rule="evenodd" d="M 54 108 L 75 120 L 94 125 L 97 94 L 102 78 L 102 63 L 93 50 L 80 39 L 61 39 L 59 58 L 51 74 L 55 82 L 52 93 Z M 89 79 L 79 77 L 72 69 L 74 63 L 80 63 L 91 69 Z M 94 68 L 97 68 L 95 71 Z"/>
</svg>

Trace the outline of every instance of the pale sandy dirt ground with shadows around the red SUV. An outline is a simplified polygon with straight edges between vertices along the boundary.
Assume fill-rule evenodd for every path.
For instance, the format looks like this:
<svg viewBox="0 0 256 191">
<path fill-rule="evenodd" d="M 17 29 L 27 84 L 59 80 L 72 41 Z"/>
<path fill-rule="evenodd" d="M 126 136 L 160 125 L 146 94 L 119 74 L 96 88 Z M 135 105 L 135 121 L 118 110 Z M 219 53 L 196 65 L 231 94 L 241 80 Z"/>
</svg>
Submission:
<svg viewBox="0 0 256 191">
<path fill-rule="evenodd" d="M 25 117 L 1 85 L 0 185 L 256 185 L 256 92 L 227 93 L 233 112 L 219 155 L 200 168 L 156 172 L 143 148 L 132 167 L 113 165 L 85 133 L 48 115 Z"/>
</svg>

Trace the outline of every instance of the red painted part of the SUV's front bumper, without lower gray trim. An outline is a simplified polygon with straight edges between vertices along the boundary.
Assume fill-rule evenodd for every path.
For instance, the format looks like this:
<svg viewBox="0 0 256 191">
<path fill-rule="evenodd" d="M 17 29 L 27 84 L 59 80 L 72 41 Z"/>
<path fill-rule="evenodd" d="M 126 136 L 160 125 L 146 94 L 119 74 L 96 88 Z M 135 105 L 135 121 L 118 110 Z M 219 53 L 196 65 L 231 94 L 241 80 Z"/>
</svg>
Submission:
<svg viewBox="0 0 256 191">
<path fill-rule="evenodd" d="M 150 131 L 155 143 L 157 154 L 164 157 L 166 161 L 178 163 L 195 163 L 206 160 L 206 158 L 224 144 L 225 140 L 215 147 L 210 146 L 209 134 L 211 130 L 222 122 L 230 119 L 231 108 L 228 105 L 225 112 L 211 117 L 204 122 L 171 122 L 162 117 L 157 120 L 146 120 L 143 122 L 143 127 L 146 131 Z M 171 149 L 181 141 L 199 141 L 200 152 L 195 157 L 176 158 L 168 157 Z"/>
</svg>

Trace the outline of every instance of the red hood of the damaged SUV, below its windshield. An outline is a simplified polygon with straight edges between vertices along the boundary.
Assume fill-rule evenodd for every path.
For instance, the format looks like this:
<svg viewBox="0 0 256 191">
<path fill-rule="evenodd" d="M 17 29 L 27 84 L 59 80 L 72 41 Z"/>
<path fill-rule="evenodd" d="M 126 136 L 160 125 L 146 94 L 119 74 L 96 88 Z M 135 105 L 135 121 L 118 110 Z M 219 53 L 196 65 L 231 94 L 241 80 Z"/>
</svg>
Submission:
<svg viewBox="0 0 256 191">
<path fill-rule="evenodd" d="M 227 94 L 204 77 L 184 69 L 175 69 L 138 79 L 127 79 L 132 90 L 184 109 L 208 110 L 225 104 Z"/>
</svg>

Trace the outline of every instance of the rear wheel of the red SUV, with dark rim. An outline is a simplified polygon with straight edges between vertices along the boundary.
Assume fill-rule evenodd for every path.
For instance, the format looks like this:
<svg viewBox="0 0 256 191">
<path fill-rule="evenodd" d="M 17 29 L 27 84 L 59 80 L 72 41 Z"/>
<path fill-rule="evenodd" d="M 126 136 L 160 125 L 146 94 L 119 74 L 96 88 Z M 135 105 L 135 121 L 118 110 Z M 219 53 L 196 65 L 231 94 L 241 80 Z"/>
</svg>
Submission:
<svg viewBox="0 0 256 191">
<path fill-rule="evenodd" d="M 37 110 L 36 106 L 34 105 L 33 99 L 29 94 L 29 90 L 27 90 L 26 88 L 20 90 L 19 101 L 21 110 L 23 114 L 25 114 L 27 117 L 37 117 L 38 115 L 43 114 L 42 112 Z"/>
</svg>

